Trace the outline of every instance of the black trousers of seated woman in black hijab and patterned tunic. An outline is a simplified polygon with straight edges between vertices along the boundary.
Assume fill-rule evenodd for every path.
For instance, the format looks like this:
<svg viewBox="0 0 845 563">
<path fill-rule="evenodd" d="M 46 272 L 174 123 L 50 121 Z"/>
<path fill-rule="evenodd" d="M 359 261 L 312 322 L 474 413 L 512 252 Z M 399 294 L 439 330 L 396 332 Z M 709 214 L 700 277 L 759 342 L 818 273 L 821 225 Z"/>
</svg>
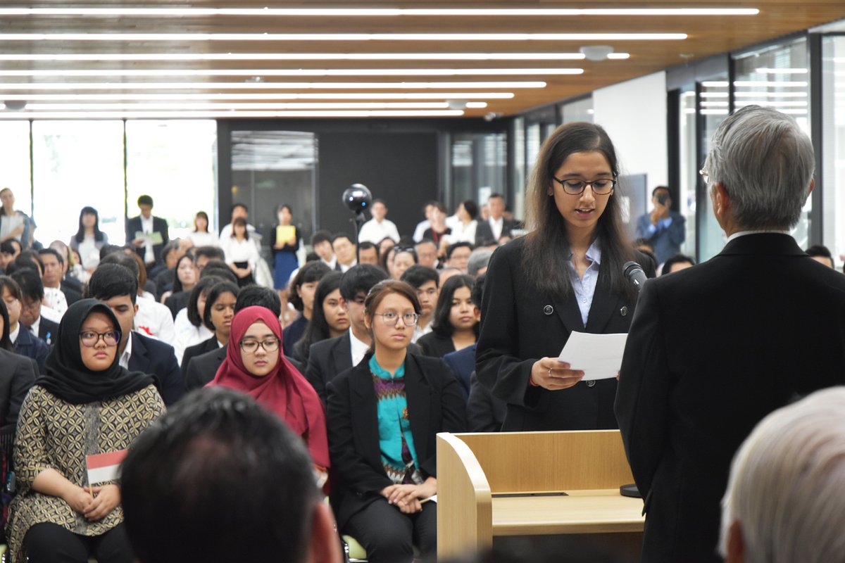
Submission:
<svg viewBox="0 0 845 563">
<path fill-rule="evenodd" d="M 24 551 L 30 563 L 134 563 L 123 523 L 99 536 L 81 536 L 58 524 L 35 524 L 24 537 Z M 15 562 L 19 563 L 19 562 Z"/>
</svg>

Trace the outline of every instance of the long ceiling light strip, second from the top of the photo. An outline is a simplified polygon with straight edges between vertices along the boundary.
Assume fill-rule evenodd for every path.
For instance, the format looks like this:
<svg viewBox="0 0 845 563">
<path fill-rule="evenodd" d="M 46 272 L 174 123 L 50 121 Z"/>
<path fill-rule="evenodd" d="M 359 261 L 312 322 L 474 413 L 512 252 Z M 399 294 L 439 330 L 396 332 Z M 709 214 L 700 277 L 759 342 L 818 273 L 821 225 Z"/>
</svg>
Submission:
<svg viewBox="0 0 845 563">
<path fill-rule="evenodd" d="M 678 41 L 685 33 L 3 33 L 0 41 Z"/>
</svg>

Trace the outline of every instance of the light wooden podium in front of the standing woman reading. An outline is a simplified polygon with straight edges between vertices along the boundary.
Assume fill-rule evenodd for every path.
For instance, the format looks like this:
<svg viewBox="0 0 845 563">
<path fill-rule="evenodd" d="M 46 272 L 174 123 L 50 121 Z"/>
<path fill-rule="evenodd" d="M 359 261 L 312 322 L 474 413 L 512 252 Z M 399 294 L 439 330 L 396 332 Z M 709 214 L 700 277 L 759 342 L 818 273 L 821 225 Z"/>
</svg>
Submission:
<svg viewBox="0 0 845 563">
<path fill-rule="evenodd" d="M 493 536 L 638 543 L 645 522 L 642 500 L 619 495 L 634 482 L 619 430 L 438 434 L 437 482 L 438 558 L 488 549 Z"/>
</svg>

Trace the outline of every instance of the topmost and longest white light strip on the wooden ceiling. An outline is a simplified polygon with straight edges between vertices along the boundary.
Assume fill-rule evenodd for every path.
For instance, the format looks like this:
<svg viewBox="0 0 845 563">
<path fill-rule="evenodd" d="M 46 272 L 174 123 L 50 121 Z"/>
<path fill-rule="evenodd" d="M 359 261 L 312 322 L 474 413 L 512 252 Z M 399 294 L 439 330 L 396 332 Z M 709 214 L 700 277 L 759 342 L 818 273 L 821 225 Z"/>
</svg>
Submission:
<svg viewBox="0 0 845 563">
<path fill-rule="evenodd" d="M 3 16 L 719 16 L 757 8 L 0 8 Z"/>
</svg>

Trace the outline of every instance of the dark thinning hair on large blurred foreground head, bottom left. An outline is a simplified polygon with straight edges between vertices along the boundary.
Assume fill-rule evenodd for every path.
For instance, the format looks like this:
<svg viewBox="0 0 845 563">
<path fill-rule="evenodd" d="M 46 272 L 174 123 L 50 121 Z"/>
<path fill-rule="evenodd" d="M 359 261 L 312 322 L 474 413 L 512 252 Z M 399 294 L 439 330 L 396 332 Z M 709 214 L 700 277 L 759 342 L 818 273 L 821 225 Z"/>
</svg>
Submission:
<svg viewBox="0 0 845 563">
<path fill-rule="evenodd" d="M 134 441 L 121 496 L 141 563 L 304 561 L 320 502 L 302 438 L 225 387 L 189 393 Z"/>
</svg>

